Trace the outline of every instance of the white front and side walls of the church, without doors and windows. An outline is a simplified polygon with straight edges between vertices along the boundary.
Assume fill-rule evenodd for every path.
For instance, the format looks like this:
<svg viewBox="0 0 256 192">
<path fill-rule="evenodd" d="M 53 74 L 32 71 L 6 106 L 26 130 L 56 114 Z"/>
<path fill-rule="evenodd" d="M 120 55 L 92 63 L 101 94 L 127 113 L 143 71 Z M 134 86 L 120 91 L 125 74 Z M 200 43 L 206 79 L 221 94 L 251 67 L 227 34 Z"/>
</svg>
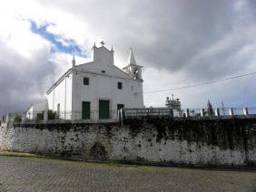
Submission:
<svg viewBox="0 0 256 192">
<path fill-rule="evenodd" d="M 90 84 L 84 85 L 84 77 Z M 117 88 L 123 83 L 123 89 Z M 113 65 L 113 51 L 94 47 L 94 62 L 74 66 L 48 91 L 49 110 L 57 111 L 60 104 L 62 119 L 82 119 L 82 101 L 91 102 L 91 119 L 99 118 L 99 100 L 110 101 L 111 118 L 117 118 L 117 104 L 125 108 L 143 108 L 143 81 Z M 73 111 L 73 118 L 71 117 Z"/>
</svg>

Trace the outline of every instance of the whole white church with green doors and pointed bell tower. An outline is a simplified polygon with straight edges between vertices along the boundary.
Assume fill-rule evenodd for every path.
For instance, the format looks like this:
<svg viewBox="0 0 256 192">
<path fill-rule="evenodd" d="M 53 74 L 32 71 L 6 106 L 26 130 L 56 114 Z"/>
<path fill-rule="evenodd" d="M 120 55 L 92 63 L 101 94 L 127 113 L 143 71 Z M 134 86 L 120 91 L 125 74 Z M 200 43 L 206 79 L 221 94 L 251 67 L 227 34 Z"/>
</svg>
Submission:
<svg viewBox="0 0 256 192">
<path fill-rule="evenodd" d="M 102 42 L 92 50 L 93 62 L 76 65 L 73 58 L 72 68 L 46 92 L 46 110 L 64 120 L 98 120 L 116 119 L 122 108 L 143 108 L 142 66 L 135 62 L 133 50 L 123 70 L 114 65 L 113 48 L 108 50 Z M 36 106 L 28 111 L 45 110 Z"/>
</svg>

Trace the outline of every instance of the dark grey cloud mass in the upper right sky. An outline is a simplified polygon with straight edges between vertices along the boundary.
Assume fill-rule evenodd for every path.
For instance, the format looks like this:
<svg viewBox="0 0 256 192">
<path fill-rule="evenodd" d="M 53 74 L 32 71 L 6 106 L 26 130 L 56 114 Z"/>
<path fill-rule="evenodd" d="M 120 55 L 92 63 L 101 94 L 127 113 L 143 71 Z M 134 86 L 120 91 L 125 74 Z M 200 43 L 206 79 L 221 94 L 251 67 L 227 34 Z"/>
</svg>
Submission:
<svg viewBox="0 0 256 192">
<path fill-rule="evenodd" d="M 158 16 L 152 16 L 148 28 L 154 41 L 141 44 L 145 62 L 170 72 L 187 72 L 191 80 L 219 78 L 247 67 L 251 57 L 232 58 L 255 42 L 250 32 L 244 32 L 255 22 L 241 24 L 250 13 L 235 10 L 233 1 L 177 1 L 162 6 L 150 7 L 148 13 L 157 10 Z M 245 21 L 239 21 L 241 16 Z"/>
</svg>

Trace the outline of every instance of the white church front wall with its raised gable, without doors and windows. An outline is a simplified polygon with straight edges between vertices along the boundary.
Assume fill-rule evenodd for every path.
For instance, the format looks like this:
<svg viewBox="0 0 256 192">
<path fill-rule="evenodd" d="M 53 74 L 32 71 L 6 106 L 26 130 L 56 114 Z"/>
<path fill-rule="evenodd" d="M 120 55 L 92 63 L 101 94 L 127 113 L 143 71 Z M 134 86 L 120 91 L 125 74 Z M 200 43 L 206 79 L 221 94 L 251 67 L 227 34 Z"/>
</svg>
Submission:
<svg viewBox="0 0 256 192">
<path fill-rule="evenodd" d="M 111 118 L 117 118 L 117 104 L 125 108 L 143 108 L 143 81 L 113 65 L 113 52 L 105 47 L 94 48 L 94 62 L 75 66 L 73 110 L 82 111 L 82 101 L 91 102 L 91 118 L 99 118 L 99 100 L 110 101 Z M 84 77 L 90 79 L 84 85 Z M 119 90 L 117 82 L 123 83 Z M 82 114 L 78 114 L 82 117 Z M 77 117 L 78 119 L 81 117 Z"/>
</svg>

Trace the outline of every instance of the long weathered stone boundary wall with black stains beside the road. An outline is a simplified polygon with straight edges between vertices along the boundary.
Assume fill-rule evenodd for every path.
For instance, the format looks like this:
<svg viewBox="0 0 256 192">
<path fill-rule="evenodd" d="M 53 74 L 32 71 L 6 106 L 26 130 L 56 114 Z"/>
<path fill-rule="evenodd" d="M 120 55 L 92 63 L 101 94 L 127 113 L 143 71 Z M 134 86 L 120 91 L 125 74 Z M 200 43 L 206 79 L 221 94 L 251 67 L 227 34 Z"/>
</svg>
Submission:
<svg viewBox="0 0 256 192">
<path fill-rule="evenodd" d="M 0 150 L 66 158 L 164 164 L 256 165 L 256 119 L 124 120 L 16 124 L 0 128 Z"/>
</svg>

